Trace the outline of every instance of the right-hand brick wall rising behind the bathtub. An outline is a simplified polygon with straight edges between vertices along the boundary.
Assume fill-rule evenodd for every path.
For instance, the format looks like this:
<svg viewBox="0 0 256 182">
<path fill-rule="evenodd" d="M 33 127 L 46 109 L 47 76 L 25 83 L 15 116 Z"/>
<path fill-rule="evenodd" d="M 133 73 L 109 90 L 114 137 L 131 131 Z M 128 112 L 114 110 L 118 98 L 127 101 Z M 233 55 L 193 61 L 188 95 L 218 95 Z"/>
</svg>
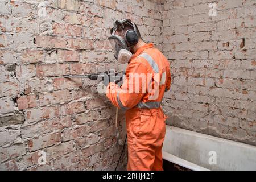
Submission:
<svg viewBox="0 0 256 182">
<path fill-rule="evenodd" d="M 164 1 L 170 125 L 256 146 L 255 10 L 254 0 Z"/>
</svg>

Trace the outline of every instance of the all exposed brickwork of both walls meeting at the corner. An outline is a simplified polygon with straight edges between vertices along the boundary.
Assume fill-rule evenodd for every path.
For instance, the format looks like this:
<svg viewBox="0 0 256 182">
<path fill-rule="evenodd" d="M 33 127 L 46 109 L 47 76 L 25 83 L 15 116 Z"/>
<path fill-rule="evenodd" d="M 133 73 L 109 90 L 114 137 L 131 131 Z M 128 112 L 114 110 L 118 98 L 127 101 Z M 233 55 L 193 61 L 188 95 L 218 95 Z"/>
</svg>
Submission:
<svg viewBox="0 0 256 182">
<path fill-rule="evenodd" d="M 106 40 L 122 18 L 170 60 L 167 123 L 256 145 L 254 0 L 216 1 L 216 17 L 208 0 L 49 0 L 46 17 L 38 2 L 0 1 L 0 169 L 115 168 L 115 108 L 98 82 L 63 76 L 123 71 Z"/>
</svg>

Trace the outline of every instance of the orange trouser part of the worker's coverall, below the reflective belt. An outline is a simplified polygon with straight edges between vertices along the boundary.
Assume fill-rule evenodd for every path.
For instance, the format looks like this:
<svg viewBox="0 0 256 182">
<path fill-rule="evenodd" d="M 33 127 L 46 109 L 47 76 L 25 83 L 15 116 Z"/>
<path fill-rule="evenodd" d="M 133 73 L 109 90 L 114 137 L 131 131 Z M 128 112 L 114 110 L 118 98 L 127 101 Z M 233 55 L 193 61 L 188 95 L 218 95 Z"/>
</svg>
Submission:
<svg viewBox="0 0 256 182">
<path fill-rule="evenodd" d="M 146 113 L 147 112 L 147 113 Z M 126 113 L 128 164 L 127 170 L 162 170 L 162 146 L 165 135 L 161 110 Z"/>
</svg>

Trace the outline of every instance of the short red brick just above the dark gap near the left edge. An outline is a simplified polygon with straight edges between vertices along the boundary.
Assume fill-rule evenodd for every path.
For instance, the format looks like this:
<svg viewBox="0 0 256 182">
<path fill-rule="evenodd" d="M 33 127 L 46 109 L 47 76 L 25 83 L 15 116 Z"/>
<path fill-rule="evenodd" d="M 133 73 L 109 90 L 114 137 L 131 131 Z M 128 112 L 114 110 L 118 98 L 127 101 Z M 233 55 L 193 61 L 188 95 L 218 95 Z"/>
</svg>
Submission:
<svg viewBox="0 0 256 182">
<path fill-rule="evenodd" d="M 36 103 L 36 95 L 31 94 L 27 96 L 21 96 L 18 98 L 18 109 L 27 109 L 32 107 L 37 107 L 38 104 Z"/>
</svg>

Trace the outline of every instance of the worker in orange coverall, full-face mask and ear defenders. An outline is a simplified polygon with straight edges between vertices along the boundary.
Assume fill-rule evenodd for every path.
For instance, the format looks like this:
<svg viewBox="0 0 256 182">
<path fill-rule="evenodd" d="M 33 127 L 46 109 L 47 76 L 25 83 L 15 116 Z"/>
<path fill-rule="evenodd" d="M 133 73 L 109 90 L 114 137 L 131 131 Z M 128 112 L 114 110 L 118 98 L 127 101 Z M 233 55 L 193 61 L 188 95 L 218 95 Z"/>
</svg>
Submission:
<svg viewBox="0 0 256 182">
<path fill-rule="evenodd" d="M 126 111 L 127 169 L 163 170 L 162 146 L 167 117 L 160 103 L 164 92 L 170 89 L 170 64 L 152 43 L 143 42 L 137 25 L 130 20 L 115 21 L 110 33 L 112 36 L 108 39 L 115 58 L 119 63 L 129 63 L 122 86 L 110 82 L 106 90 L 109 100 Z M 138 88 L 137 92 L 134 88 Z"/>
</svg>

